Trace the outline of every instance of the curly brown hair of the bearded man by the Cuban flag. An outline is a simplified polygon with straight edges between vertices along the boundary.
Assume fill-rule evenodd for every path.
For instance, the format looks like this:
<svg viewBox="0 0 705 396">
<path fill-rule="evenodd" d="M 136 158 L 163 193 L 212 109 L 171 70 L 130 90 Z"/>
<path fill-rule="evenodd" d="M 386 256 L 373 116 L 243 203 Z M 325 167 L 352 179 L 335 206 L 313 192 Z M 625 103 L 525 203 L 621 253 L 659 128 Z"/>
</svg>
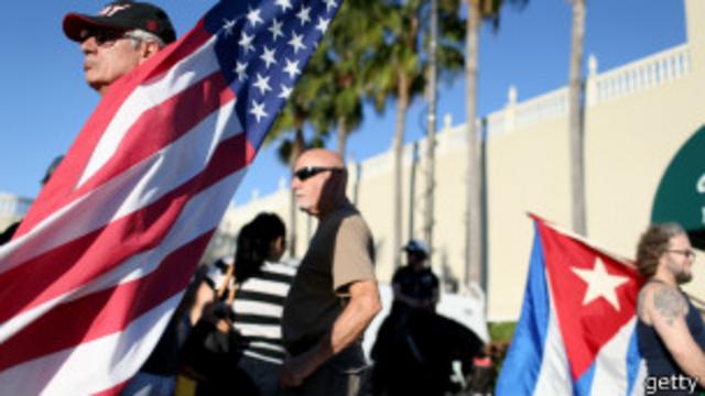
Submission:
<svg viewBox="0 0 705 396">
<path fill-rule="evenodd" d="M 671 239 L 685 234 L 677 223 L 652 224 L 641 235 L 637 245 L 637 270 L 639 274 L 651 277 L 657 273 L 659 258 L 669 250 Z"/>
</svg>

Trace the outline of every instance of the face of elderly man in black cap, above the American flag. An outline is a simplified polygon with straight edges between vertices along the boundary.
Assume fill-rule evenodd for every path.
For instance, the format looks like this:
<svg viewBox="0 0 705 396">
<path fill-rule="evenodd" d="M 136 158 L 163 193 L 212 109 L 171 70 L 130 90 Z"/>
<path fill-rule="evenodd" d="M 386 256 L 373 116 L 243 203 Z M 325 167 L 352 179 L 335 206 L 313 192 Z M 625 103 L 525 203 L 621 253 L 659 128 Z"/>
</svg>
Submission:
<svg viewBox="0 0 705 396">
<path fill-rule="evenodd" d="M 87 32 L 80 50 L 86 55 L 86 82 L 102 95 L 112 82 L 144 61 L 145 54 L 144 43 L 135 45 L 132 38 L 120 33 L 99 33 Z"/>
</svg>

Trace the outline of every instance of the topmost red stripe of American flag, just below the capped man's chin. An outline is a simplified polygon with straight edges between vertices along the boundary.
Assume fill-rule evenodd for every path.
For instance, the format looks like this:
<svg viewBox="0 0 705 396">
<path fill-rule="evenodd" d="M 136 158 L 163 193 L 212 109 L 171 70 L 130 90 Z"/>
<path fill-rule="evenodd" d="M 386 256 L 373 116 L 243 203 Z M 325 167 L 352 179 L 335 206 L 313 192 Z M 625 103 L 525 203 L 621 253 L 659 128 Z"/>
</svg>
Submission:
<svg viewBox="0 0 705 396">
<path fill-rule="evenodd" d="M 139 85 L 158 77 L 189 56 L 210 37 L 212 34 L 205 30 L 203 21 L 199 21 L 196 28 L 177 43 L 167 46 L 140 67 L 113 82 L 72 144 L 54 177 L 42 189 L 36 201 L 30 208 L 14 238 L 25 234 L 39 222 L 70 201 L 70 194 L 78 184 L 100 136 L 128 96 Z"/>
</svg>

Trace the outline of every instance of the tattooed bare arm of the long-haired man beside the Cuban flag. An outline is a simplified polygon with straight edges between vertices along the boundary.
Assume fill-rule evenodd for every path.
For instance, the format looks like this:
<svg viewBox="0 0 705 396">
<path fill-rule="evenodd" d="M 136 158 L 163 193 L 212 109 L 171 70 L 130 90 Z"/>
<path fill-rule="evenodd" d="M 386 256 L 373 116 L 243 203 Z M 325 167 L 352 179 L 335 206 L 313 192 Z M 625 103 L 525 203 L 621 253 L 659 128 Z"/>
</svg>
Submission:
<svg viewBox="0 0 705 396">
<path fill-rule="evenodd" d="M 685 322 L 687 302 L 683 295 L 673 287 L 659 285 L 649 290 L 644 300 L 646 314 L 677 365 L 705 386 L 705 352 Z"/>
</svg>

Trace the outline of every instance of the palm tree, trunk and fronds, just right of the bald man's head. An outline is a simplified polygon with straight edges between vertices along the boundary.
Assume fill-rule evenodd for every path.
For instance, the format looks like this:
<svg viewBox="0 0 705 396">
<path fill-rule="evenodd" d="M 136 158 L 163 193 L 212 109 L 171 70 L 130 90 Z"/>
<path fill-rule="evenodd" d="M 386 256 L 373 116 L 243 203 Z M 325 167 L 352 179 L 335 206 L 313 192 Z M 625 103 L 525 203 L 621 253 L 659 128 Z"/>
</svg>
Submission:
<svg viewBox="0 0 705 396">
<path fill-rule="evenodd" d="M 447 0 L 448 3 L 457 2 Z M 402 150 L 406 111 L 413 98 L 423 92 L 425 65 L 420 50 L 422 22 L 426 12 L 423 0 L 382 1 L 380 21 L 384 29 L 384 41 L 376 48 L 368 74 L 368 90 L 375 101 L 376 109 L 382 111 L 389 98 L 397 101 L 394 121 L 393 151 L 393 195 L 392 195 L 392 251 L 393 262 L 400 264 L 398 246 L 401 245 L 402 233 Z M 457 7 L 454 8 L 457 10 Z M 457 13 L 456 13 L 457 18 Z M 441 48 L 453 52 L 457 50 L 447 42 Z M 452 59 L 452 56 L 447 56 Z M 440 56 L 440 61 L 444 58 Z M 441 64 L 442 67 L 444 66 Z"/>
</svg>

